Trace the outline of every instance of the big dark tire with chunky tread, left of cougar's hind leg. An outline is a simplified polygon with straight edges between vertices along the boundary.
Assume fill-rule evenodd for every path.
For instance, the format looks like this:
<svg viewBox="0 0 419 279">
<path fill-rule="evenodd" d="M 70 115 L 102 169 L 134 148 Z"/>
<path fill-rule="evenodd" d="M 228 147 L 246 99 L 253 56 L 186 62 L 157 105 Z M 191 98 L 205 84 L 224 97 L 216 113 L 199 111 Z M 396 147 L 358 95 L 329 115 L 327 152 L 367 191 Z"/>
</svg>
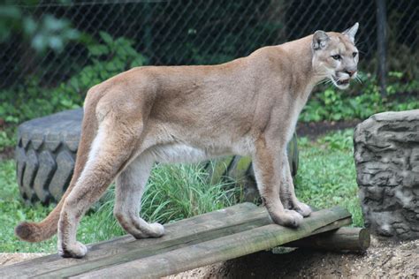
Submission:
<svg viewBox="0 0 419 279">
<path fill-rule="evenodd" d="M 16 170 L 27 203 L 61 199 L 72 178 L 82 118 L 83 110 L 73 109 L 19 125 Z"/>
</svg>

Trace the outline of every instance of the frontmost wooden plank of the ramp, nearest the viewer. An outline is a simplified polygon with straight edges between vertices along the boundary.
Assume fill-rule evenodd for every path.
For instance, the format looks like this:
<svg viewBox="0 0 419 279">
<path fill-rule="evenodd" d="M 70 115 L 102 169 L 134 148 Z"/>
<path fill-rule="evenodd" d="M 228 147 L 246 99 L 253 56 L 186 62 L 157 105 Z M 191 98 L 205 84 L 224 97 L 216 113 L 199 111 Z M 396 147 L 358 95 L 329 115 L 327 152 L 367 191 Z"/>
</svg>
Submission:
<svg viewBox="0 0 419 279">
<path fill-rule="evenodd" d="M 298 229 L 268 224 L 139 260 L 130 258 L 125 263 L 108 264 L 88 273 L 80 273 L 77 268 L 73 268 L 72 272 L 74 278 L 161 277 L 283 245 L 321 230 L 337 229 L 348 222 L 351 220 L 347 210 L 333 207 L 314 212 L 309 218 L 304 219 Z M 58 270 L 58 273 L 53 272 L 46 277 L 63 275 Z M 65 276 L 72 277 L 69 274 Z"/>
</svg>

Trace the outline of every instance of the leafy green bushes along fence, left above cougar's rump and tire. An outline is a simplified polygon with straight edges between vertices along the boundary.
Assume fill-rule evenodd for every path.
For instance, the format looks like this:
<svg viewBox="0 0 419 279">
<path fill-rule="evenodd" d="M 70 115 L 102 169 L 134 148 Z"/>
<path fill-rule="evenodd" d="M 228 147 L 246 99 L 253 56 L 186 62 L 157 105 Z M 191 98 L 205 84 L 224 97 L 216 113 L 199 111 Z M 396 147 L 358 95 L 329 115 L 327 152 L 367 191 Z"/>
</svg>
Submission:
<svg viewBox="0 0 419 279">
<path fill-rule="evenodd" d="M 0 118 L 6 123 L 18 124 L 27 119 L 49 115 L 82 105 L 88 88 L 126 70 L 147 63 L 133 49 L 133 41 L 116 40 L 101 32 L 103 43 L 88 46 L 88 65 L 57 87 L 45 88 L 36 77 L 27 79 L 18 87 L 0 91 Z"/>
</svg>

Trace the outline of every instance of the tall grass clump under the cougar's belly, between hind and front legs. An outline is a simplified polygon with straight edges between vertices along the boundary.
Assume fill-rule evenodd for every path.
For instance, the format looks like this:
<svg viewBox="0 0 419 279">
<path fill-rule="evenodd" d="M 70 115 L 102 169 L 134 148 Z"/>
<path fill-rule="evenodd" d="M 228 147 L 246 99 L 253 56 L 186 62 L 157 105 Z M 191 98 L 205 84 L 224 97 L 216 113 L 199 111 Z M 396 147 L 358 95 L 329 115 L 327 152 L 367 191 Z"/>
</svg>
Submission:
<svg viewBox="0 0 419 279">
<path fill-rule="evenodd" d="M 169 222 L 229 207 L 241 200 L 232 182 L 210 183 L 200 164 L 157 166 L 152 172 L 142 213 L 149 220 Z"/>
</svg>

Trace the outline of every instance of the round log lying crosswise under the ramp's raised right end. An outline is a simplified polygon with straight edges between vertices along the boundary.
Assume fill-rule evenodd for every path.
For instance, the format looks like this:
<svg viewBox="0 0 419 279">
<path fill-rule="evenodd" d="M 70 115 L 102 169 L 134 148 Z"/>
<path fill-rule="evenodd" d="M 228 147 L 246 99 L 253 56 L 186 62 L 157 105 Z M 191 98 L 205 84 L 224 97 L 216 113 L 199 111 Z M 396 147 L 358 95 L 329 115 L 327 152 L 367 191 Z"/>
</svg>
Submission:
<svg viewBox="0 0 419 279">
<path fill-rule="evenodd" d="M 309 238 L 287 243 L 287 247 L 301 247 L 327 251 L 364 252 L 370 243 L 369 230 L 363 228 L 340 228 L 326 231 Z"/>
</svg>

